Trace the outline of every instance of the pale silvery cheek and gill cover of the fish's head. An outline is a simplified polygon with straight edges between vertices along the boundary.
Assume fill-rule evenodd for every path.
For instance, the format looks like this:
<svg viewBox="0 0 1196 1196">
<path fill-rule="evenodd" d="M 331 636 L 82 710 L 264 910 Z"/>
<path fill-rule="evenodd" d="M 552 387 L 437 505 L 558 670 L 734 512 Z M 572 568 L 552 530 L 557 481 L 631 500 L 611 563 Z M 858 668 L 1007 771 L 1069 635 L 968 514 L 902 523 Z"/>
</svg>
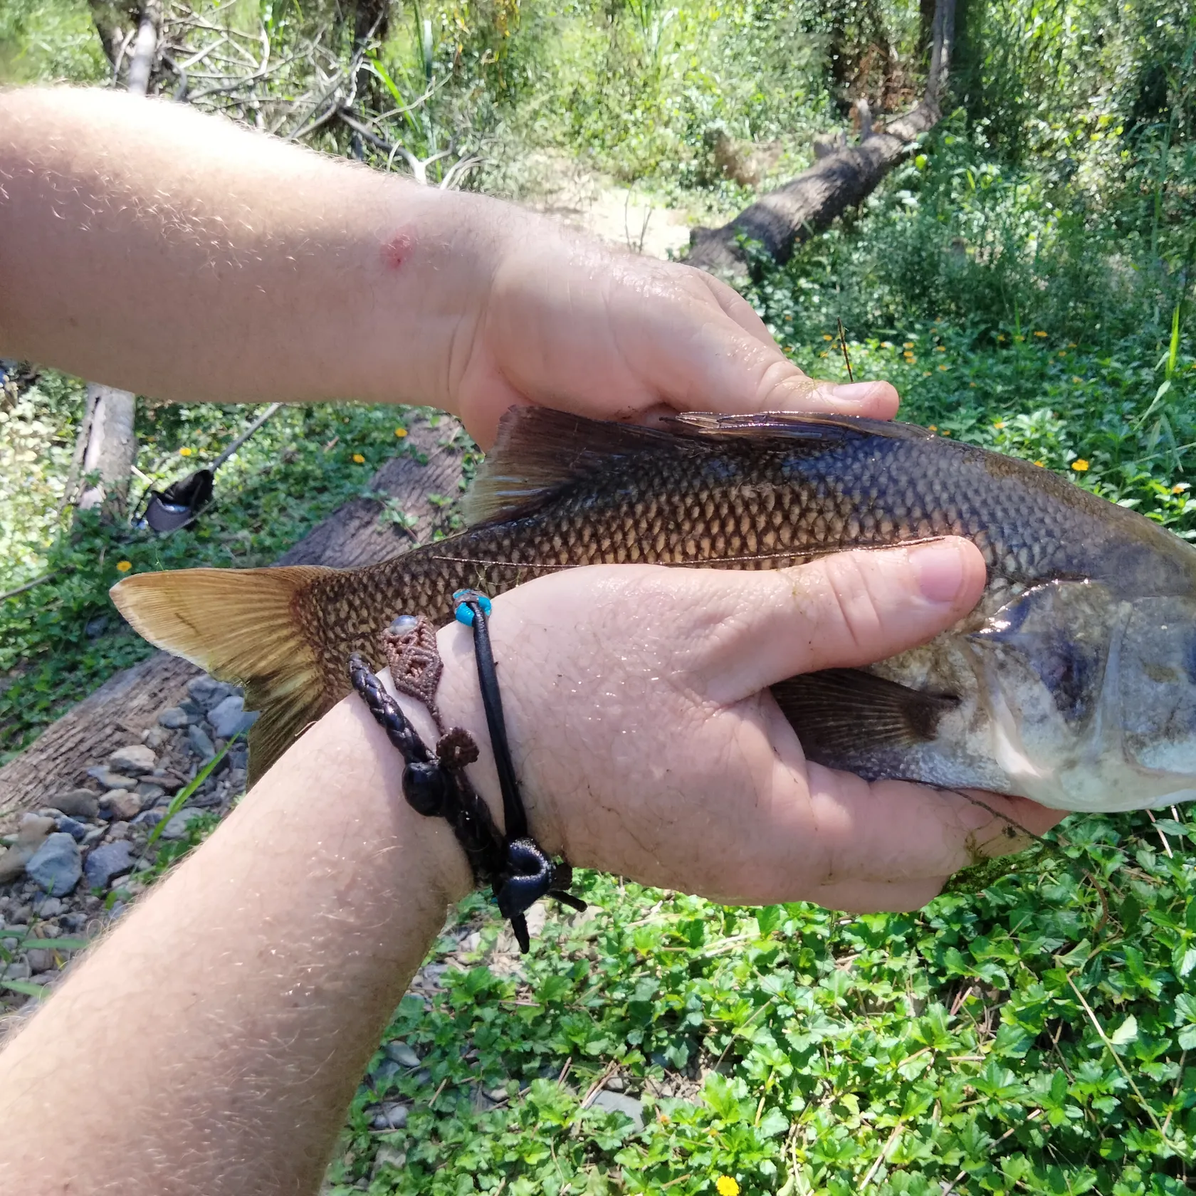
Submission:
<svg viewBox="0 0 1196 1196">
<path fill-rule="evenodd" d="M 1054 581 L 969 640 L 1017 792 L 1104 812 L 1196 798 L 1196 597 Z"/>
</svg>

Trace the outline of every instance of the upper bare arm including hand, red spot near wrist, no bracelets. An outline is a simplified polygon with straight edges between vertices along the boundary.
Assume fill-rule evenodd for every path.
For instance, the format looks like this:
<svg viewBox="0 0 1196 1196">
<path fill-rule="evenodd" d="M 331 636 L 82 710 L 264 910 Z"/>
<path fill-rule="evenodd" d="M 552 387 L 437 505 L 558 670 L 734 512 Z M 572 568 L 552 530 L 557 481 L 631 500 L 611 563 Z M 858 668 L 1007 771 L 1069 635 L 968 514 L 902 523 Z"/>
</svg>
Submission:
<svg viewBox="0 0 1196 1196">
<path fill-rule="evenodd" d="M 0 92 L 0 352 L 176 401 L 889 416 L 730 287 L 182 105 Z"/>
</svg>

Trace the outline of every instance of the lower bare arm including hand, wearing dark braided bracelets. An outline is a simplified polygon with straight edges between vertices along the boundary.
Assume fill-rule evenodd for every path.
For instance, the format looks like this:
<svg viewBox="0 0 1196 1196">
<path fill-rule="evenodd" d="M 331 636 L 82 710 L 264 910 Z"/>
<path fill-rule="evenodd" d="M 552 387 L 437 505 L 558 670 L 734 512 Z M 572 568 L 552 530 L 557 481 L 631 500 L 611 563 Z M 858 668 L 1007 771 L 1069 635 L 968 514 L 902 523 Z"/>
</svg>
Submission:
<svg viewBox="0 0 1196 1196">
<path fill-rule="evenodd" d="M 976 549 L 947 542 L 771 574 L 576 569 L 504 596 L 492 631 L 532 831 L 574 864 L 726 901 L 923 904 L 970 847 L 1020 846 L 993 810 L 1039 832 L 1058 816 L 807 767 L 761 690 L 929 637 L 983 578 Z M 483 746 L 498 810 L 469 633 L 440 646 L 441 708 Z M 399 767 L 348 698 L 121 920 L 0 1054 L 0 1189 L 316 1191 L 469 885 L 446 826 L 404 805 Z"/>
</svg>

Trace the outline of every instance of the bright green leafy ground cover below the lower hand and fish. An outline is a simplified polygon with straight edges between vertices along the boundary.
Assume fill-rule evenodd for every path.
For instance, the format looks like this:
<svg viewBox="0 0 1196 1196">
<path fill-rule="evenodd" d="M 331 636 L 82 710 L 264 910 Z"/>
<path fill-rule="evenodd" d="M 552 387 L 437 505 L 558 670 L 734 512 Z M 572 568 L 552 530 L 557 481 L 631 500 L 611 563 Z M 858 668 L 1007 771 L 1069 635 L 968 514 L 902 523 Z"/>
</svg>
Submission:
<svg viewBox="0 0 1196 1196">
<path fill-rule="evenodd" d="M 403 1000 L 386 1037 L 421 1068 L 367 1078 L 332 1191 L 697 1194 L 720 1174 L 787 1196 L 865 1176 L 893 1196 L 1186 1191 L 1194 836 L 1183 819 L 1073 819 L 984 893 L 847 919 L 587 875 L 596 913 L 550 919 L 513 976 L 470 964 L 498 932 L 470 898 L 478 951 L 427 1006 Z M 642 1130 L 581 1109 L 616 1068 Z M 496 1088 L 492 1107 L 478 1091 Z M 404 1130 L 368 1130 L 379 1100 L 411 1103 Z"/>
</svg>

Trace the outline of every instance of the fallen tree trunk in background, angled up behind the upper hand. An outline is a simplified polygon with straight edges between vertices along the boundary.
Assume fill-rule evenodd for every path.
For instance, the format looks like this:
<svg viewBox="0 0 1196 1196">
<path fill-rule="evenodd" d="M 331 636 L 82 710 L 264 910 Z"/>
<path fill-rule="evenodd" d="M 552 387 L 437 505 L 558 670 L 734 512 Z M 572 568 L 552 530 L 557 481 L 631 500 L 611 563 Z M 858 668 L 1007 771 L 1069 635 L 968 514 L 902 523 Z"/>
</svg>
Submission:
<svg viewBox="0 0 1196 1196">
<path fill-rule="evenodd" d="M 770 191 L 721 228 L 695 228 L 687 262 L 745 281 L 748 254 L 740 238 L 758 242 L 773 261 L 785 263 L 794 246 L 822 232 L 847 208 L 865 200 L 908 153 L 919 134 L 941 118 L 939 99 L 947 79 L 954 36 L 956 0 L 938 0 L 926 94 L 904 116 L 859 145 L 828 154 L 792 182 Z"/>
</svg>

